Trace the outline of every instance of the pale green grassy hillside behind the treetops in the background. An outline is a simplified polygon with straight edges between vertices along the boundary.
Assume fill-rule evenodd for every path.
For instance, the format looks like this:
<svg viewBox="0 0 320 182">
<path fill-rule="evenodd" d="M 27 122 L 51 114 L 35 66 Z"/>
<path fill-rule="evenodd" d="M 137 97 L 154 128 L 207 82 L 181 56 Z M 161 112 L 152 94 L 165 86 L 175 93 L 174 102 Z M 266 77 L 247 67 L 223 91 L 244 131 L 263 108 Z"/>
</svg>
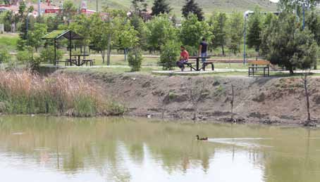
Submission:
<svg viewBox="0 0 320 182">
<path fill-rule="evenodd" d="M 60 0 L 54 0 L 59 3 Z M 147 0 L 149 9 L 151 9 L 154 0 Z M 180 9 L 185 4 L 185 0 L 167 0 L 173 8 L 173 13 L 180 15 Z M 255 6 L 260 6 L 262 11 L 276 11 L 276 4 L 269 0 L 196 0 L 202 6 L 206 15 L 213 11 L 247 11 L 253 10 Z M 79 4 L 81 0 L 75 0 L 75 4 Z M 96 0 L 88 0 L 87 5 L 90 9 L 96 9 Z M 129 9 L 131 0 L 98 0 L 99 8 L 109 6 L 110 8 Z"/>
</svg>

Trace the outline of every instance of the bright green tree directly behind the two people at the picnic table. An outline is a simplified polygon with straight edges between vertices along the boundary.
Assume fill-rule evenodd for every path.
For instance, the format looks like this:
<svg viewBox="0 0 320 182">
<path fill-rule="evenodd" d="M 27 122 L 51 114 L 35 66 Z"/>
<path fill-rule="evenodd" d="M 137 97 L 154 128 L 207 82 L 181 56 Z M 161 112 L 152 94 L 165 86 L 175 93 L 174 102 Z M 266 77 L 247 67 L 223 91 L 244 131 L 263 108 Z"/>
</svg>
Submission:
<svg viewBox="0 0 320 182">
<path fill-rule="evenodd" d="M 207 22 L 199 21 L 196 15 L 190 14 L 187 19 L 182 21 L 180 40 L 183 45 L 190 46 L 189 48 L 192 50 L 187 50 L 189 53 L 196 54 L 202 37 L 210 41 L 213 38 L 212 27 Z"/>
</svg>

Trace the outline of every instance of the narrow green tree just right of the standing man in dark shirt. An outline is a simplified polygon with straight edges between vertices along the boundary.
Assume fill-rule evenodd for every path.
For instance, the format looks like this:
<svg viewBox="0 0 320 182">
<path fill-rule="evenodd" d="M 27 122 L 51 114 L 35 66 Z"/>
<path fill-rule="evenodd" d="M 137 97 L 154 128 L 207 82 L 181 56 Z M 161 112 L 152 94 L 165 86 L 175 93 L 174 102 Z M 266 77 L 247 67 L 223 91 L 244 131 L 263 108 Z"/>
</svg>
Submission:
<svg viewBox="0 0 320 182">
<path fill-rule="evenodd" d="M 226 13 L 218 13 L 213 18 L 213 34 L 212 45 L 214 48 L 221 46 L 222 55 L 225 56 L 224 46 L 227 42 L 227 15 Z"/>
</svg>

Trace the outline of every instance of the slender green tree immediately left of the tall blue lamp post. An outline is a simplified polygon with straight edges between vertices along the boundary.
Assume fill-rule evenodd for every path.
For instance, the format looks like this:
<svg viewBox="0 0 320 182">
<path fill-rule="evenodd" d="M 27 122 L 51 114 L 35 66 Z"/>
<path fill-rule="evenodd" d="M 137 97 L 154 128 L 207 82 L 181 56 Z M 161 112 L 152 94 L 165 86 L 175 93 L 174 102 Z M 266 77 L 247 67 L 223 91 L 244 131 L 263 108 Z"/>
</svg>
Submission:
<svg viewBox="0 0 320 182">
<path fill-rule="evenodd" d="M 240 44 L 242 44 L 244 22 L 241 13 L 234 12 L 230 15 L 230 28 L 228 29 L 228 34 L 230 37 L 230 43 L 228 48 L 236 52 L 240 52 Z"/>
</svg>

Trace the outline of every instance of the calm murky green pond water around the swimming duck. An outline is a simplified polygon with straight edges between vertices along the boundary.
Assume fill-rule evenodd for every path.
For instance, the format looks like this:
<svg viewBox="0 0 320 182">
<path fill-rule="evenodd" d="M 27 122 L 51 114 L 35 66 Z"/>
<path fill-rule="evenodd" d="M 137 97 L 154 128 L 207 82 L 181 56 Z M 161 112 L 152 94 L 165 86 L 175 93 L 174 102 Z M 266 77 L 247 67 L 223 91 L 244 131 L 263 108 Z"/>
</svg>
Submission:
<svg viewBox="0 0 320 182">
<path fill-rule="evenodd" d="M 196 141 L 197 134 L 209 141 Z M 0 117 L 0 178 L 320 181 L 320 132 L 145 119 Z"/>
</svg>

